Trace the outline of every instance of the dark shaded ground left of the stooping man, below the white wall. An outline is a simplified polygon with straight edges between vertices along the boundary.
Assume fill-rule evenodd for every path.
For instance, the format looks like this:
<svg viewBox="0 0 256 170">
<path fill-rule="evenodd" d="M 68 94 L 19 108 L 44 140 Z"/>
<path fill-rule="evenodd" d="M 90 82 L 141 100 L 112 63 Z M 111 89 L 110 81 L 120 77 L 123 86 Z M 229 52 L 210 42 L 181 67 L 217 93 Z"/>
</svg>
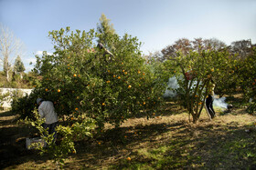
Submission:
<svg viewBox="0 0 256 170">
<path fill-rule="evenodd" d="M 9 116 L 13 116 L 9 118 Z M 27 125 L 16 125 L 16 117 L 10 112 L 0 113 L 0 167 L 21 165 L 29 161 L 41 163 L 48 158 L 38 155 L 35 150 L 26 149 L 26 137 L 31 137 L 35 129 Z"/>
</svg>

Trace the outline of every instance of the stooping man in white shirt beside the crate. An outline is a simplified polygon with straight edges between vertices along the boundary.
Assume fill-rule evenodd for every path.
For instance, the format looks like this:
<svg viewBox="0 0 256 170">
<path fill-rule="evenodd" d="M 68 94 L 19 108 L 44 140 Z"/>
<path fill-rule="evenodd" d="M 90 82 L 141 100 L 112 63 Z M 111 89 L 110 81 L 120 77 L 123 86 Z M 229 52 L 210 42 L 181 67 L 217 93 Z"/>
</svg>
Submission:
<svg viewBox="0 0 256 170">
<path fill-rule="evenodd" d="M 42 98 L 37 98 L 37 105 L 40 118 L 46 119 L 43 127 L 48 128 L 48 135 L 54 134 L 54 139 L 56 139 L 57 134 L 55 128 L 59 125 L 59 119 L 53 103 L 51 101 L 44 101 Z"/>
</svg>

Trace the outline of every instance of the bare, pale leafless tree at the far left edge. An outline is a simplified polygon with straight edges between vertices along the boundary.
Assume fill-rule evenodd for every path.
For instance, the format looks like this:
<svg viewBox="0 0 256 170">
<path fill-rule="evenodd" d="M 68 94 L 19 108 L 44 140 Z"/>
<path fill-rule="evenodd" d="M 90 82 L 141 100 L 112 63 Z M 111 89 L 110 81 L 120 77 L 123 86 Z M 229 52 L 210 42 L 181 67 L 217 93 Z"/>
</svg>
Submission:
<svg viewBox="0 0 256 170">
<path fill-rule="evenodd" d="M 10 81 L 12 60 L 16 55 L 22 55 L 23 44 L 12 31 L 0 25 L 0 65 L 3 66 L 7 81 Z"/>
</svg>

